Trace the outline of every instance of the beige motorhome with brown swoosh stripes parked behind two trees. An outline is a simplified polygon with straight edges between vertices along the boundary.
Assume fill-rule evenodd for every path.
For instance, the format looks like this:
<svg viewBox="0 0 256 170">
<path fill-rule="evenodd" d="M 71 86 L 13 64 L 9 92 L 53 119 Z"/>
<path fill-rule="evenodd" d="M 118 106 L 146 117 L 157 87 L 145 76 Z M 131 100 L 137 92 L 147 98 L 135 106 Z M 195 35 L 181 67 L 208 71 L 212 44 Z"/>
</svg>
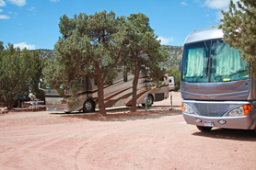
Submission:
<svg viewBox="0 0 256 170">
<path fill-rule="evenodd" d="M 137 104 L 145 106 L 145 94 L 147 95 L 146 106 L 150 107 L 154 101 L 161 101 L 169 97 L 168 71 L 161 80 L 161 87 L 157 88 L 150 81 L 149 73 L 139 75 L 137 86 Z M 104 86 L 104 102 L 106 108 L 132 106 L 134 75 L 120 72 L 111 85 Z M 45 100 L 47 110 L 54 111 L 83 111 L 91 112 L 99 108 L 98 87 L 93 78 L 84 79 L 83 90 L 78 93 L 77 104 L 71 107 L 72 101 L 64 102 L 64 98 L 59 96 L 56 90 L 45 89 Z M 67 96 L 70 96 L 68 94 Z"/>
</svg>

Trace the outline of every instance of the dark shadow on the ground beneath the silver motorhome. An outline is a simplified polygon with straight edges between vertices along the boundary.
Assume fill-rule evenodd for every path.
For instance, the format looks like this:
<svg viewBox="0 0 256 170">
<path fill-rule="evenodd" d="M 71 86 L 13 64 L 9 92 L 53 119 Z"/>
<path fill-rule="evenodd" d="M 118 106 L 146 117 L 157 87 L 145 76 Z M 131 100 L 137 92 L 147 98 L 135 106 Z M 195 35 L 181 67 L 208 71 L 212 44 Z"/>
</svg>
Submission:
<svg viewBox="0 0 256 170">
<path fill-rule="evenodd" d="M 214 129 L 205 132 L 198 131 L 192 133 L 192 135 L 223 140 L 256 142 L 256 132 L 254 130 Z"/>
</svg>

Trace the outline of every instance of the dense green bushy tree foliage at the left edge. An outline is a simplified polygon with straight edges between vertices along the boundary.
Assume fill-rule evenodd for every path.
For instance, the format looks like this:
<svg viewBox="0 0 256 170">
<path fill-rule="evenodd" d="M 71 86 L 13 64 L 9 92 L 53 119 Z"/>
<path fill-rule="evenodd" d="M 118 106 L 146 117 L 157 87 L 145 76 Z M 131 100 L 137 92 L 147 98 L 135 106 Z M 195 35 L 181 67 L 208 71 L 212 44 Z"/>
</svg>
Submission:
<svg viewBox="0 0 256 170">
<path fill-rule="evenodd" d="M 5 51 L 0 51 L 0 103 L 8 109 L 13 108 L 18 95 L 28 96 L 31 92 L 38 95 L 41 76 L 41 60 L 34 51 L 31 55 L 26 49 L 15 49 L 9 44 Z"/>
</svg>

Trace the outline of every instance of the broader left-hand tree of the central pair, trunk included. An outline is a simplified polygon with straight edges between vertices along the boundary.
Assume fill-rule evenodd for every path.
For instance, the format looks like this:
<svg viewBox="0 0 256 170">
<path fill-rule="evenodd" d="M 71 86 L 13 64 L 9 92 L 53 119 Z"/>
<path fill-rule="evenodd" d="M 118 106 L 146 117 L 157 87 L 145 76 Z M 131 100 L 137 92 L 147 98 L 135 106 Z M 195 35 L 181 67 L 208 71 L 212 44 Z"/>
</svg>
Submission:
<svg viewBox="0 0 256 170">
<path fill-rule="evenodd" d="M 53 88 L 71 85 L 73 100 L 81 79 L 90 76 L 97 81 L 99 113 L 106 114 L 103 87 L 116 76 L 117 65 L 123 62 L 124 17 L 106 11 L 87 16 L 60 19 L 62 37 L 55 44 L 56 60 L 44 71 Z M 48 70 L 48 71 L 47 71 Z M 64 96 L 63 91 L 60 94 Z"/>
</svg>

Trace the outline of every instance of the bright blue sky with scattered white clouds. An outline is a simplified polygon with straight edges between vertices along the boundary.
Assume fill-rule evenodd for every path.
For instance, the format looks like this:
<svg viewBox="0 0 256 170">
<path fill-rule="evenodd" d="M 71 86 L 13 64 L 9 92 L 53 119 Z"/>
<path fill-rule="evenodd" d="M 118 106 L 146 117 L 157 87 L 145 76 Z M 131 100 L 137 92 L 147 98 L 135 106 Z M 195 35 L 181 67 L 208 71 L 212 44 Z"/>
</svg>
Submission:
<svg viewBox="0 0 256 170">
<path fill-rule="evenodd" d="M 238 1 L 238 0 L 235 0 Z M 20 49 L 54 49 L 60 17 L 143 13 L 162 45 L 182 46 L 193 30 L 217 27 L 229 0 L 0 0 L 0 41 Z"/>
</svg>

